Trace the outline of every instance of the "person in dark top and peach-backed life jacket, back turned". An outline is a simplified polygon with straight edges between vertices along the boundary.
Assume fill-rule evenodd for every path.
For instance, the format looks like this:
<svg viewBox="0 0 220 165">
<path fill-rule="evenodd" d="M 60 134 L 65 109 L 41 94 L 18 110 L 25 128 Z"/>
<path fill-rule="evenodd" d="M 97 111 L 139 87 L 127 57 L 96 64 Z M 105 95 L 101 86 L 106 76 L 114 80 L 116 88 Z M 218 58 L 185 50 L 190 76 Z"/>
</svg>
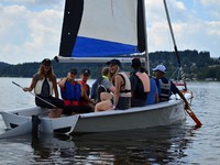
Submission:
<svg viewBox="0 0 220 165">
<path fill-rule="evenodd" d="M 143 107 L 146 105 L 147 94 L 150 92 L 150 78 L 142 67 L 140 58 L 132 59 L 131 67 L 131 107 Z"/>
</svg>

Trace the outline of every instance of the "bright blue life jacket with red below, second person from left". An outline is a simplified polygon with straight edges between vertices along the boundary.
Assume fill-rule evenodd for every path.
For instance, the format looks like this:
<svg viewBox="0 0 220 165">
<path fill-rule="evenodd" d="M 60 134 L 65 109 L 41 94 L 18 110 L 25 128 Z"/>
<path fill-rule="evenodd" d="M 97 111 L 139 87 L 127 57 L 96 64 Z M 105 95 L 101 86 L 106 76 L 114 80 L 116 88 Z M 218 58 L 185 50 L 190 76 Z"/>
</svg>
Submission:
<svg viewBox="0 0 220 165">
<path fill-rule="evenodd" d="M 78 106 L 81 98 L 81 86 L 66 81 L 65 87 L 61 88 L 61 95 L 65 106 Z"/>
</svg>

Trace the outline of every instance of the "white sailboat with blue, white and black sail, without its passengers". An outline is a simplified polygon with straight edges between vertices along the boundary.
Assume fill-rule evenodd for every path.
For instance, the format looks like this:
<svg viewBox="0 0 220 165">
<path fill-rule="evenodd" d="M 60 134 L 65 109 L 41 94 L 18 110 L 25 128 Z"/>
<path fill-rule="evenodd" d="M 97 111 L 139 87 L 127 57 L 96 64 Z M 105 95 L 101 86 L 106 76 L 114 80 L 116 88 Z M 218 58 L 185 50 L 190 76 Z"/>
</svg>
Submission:
<svg viewBox="0 0 220 165">
<path fill-rule="evenodd" d="M 148 68 L 144 0 L 66 0 L 58 62 L 106 63 L 112 58 L 131 63 L 141 56 Z M 128 55 L 130 55 L 128 57 Z M 184 94 L 191 99 L 191 92 Z M 88 133 L 145 129 L 186 121 L 183 100 L 169 101 L 128 110 L 109 110 L 76 116 L 48 118 L 40 107 L 2 111 L 11 136 L 22 130 L 31 132 L 37 125 L 43 133 Z M 38 117 L 34 124 L 33 117 Z M 29 125 L 29 127 L 28 127 Z M 31 125 L 31 127 L 30 127 Z M 35 130 L 35 129 L 34 129 Z M 6 132 L 7 133 L 7 132 Z M 0 138 L 6 138 L 4 136 Z"/>
</svg>

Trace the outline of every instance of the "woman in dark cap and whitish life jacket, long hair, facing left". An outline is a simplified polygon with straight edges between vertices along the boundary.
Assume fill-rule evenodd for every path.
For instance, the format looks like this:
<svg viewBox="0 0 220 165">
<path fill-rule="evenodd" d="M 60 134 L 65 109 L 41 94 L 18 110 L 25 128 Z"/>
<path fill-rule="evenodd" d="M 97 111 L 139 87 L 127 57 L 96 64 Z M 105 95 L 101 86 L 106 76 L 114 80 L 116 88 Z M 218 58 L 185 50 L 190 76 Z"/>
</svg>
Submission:
<svg viewBox="0 0 220 165">
<path fill-rule="evenodd" d="M 131 107 L 131 82 L 128 75 L 120 69 L 119 59 L 107 62 L 110 66 L 110 80 L 116 87 L 114 98 L 111 109 L 125 110 Z"/>
</svg>

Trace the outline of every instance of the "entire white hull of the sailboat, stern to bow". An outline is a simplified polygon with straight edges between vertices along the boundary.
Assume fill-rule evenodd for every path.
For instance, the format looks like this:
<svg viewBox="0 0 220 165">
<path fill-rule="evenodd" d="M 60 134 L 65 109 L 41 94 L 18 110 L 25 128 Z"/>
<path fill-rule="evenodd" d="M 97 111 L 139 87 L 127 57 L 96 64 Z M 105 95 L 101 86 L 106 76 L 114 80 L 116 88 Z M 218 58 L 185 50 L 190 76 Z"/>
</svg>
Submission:
<svg viewBox="0 0 220 165">
<path fill-rule="evenodd" d="M 128 110 L 109 110 L 51 119 L 45 109 L 38 107 L 1 112 L 7 129 L 22 125 L 38 116 L 40 131 L 44 133 L 108 132 L 145 129 L 158 125 L 182 123 L 186 120 L 184 103 L 180 100 Z"/>
</svg>

